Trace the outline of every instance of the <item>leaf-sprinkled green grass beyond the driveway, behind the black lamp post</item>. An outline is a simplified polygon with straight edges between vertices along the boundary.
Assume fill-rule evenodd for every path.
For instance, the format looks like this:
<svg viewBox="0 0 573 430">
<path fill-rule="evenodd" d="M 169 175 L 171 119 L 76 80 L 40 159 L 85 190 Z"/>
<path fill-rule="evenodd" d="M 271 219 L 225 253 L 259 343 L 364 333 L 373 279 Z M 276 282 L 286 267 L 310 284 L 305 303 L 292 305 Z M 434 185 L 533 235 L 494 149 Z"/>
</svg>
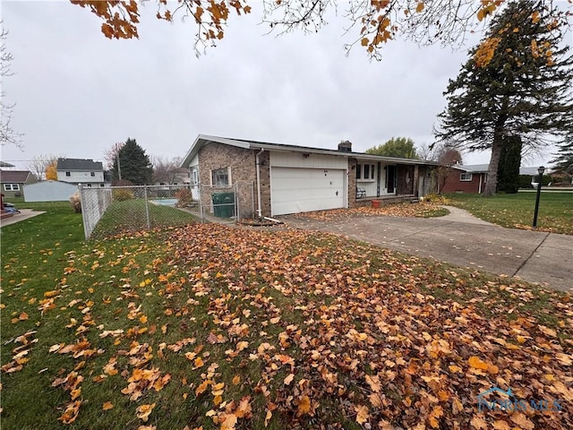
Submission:
<svg viewBox="0 0 573 430">
<path fill-rule="evenodd" d="M 476 217 L 509 228 L 532 228 L 535 193 L 496 194 L 492 197 L 472 193 L 446 194 L 449 204 Z M 573 235 L 573 193 L 542 192 L 537 229 Z"/>
</svg>

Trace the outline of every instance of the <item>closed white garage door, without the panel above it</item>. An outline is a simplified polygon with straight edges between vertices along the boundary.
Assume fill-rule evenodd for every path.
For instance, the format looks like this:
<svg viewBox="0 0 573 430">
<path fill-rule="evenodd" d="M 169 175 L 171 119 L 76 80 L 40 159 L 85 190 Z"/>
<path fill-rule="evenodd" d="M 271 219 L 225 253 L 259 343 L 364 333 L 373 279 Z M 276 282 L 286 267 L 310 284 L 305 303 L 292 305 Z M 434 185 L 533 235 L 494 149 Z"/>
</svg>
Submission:
<svg viewBox="0 0 573 430">
<path fill-rule="evenodd" d="M 345 170 L 271 168 L 270 202 L 273 215 L 345 207 Z"/>
</svg>

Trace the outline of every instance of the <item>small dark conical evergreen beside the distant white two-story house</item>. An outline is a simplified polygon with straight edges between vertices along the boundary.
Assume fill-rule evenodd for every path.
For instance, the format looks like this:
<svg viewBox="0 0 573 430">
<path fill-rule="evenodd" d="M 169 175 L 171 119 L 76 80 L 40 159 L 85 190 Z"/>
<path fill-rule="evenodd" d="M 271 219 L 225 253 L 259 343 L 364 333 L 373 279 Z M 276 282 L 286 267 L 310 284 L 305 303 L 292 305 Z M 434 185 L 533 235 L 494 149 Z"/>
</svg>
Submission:
<svg viewBox="0 0 573 430">
<path fill-rule="evenodd" d="M 145 150 L 128 138 L 119 150 L 119 167 L 117 158 L 112 168 L 114 181 L 130 181 L 134 185 L 150 185 L 153 177 L 153 167 Z"/>
</svg>

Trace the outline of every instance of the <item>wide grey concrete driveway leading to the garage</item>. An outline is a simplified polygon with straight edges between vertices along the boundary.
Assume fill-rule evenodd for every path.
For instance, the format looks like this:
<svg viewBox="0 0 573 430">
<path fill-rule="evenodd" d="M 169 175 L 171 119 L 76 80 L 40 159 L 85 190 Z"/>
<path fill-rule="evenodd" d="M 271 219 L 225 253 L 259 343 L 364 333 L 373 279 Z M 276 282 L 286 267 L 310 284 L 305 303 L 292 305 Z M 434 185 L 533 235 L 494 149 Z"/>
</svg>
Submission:
<svg viewBox="0 0 573 430">
<path fill-rule="evenodd" d="M 362 215 L 328 222 L 300 215 L 281 219 L 291 227 L 337 233 L 573 292 L 573 236 L 502 228 L 453 209 L 450 215 L 434 219 Z"/>
</svg>

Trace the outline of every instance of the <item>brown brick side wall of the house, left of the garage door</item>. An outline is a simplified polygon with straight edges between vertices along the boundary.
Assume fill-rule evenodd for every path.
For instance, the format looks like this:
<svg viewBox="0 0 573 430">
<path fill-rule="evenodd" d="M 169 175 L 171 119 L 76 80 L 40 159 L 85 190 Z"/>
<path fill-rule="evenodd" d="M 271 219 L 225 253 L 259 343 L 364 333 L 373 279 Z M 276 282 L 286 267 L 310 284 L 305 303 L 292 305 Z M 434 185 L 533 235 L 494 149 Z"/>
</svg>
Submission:
<svg viewBox="0 0 573 430">
<path fill-rule="evenodd" d="M 211 171 L 218 168 L 231 168 L 231 181 L 240 182 L 239 202 L 241 203 L 241 216 L 243 218 L 253 215 L 257 211 L 257 171 L 255 165 L 257 150 L 246 150 L 222 143 L 210 142 L 199 151 L 199 180 L 202 185 L 211 185 Z M 263 216 L 270 216 L 270 181 L 269 181 L 269 151 L 260 156 L 261 161 L 261 211 Z M 245 185 L 244 185 L 245 184 Z M 254 184 L 250 187 L 246 184 Z M 254 208 L 252 207 L 252 193 L 254 188 Z M 203 204 L 209 207 L 210 196 Z"/>
</svg>

